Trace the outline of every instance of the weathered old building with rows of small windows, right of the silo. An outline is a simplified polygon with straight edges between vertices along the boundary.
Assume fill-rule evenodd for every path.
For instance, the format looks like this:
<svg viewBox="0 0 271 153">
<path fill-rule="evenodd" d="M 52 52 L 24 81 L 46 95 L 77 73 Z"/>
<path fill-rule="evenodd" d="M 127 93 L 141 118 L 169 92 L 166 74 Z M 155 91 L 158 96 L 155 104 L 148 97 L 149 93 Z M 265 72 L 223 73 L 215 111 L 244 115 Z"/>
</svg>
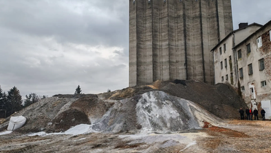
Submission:
<svg viewBox="0 0 271 153">
<path fill-rule="evenodd" d="M 228 45 L 226 52 L 221 51 L 224 44 Z M 243 25 L 218 43 L 212 52 L 215 83 L 232 84 L 241 90 L 249 107 L 265 108 L 267 116 L 271 116 L 268 114 L 271 108 L 271 21 L 264 26 Z"/>
</svg>

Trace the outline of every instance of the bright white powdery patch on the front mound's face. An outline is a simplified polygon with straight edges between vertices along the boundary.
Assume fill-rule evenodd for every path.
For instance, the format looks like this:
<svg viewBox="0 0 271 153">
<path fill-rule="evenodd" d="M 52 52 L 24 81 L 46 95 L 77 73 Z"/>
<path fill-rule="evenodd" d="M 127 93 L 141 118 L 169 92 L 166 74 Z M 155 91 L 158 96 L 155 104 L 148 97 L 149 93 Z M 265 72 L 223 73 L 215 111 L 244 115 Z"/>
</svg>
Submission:
<svg viewBox="0 0 271 153">
<path fill-rule="evenodd" d="M 151 122 L 160 125 L 162 130 L 170 127 L 169 119 L 175 119 L 176 122 L 182 123 L 180 114 L 174 109 L 171 101 L 158 101 L 153 95 L 155 92 L 142 94 L 142 98 L 136 105 L 136 114 L 138 123 L 142 125 L 143 130 L 153 130 Z M 160 96 L 166 96 L 164 92 L 159 92 Z M 166 127 L 164 125 L 166 123 Z"/>
</svg>

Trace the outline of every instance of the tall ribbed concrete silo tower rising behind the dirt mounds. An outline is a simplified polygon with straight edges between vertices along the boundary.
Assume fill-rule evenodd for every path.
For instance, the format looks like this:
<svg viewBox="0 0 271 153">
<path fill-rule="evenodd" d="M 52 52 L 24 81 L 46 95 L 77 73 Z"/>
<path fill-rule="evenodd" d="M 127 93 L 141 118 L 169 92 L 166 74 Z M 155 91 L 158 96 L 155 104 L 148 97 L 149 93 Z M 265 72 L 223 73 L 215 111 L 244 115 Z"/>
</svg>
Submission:
<svg viewBox="0 0 271 153">
<path fill-rule="evenodd" d="M 129 86 L 214 83 L 210 50 L 230 32 L 230 0 L 129 0 Z"/>
</svg>

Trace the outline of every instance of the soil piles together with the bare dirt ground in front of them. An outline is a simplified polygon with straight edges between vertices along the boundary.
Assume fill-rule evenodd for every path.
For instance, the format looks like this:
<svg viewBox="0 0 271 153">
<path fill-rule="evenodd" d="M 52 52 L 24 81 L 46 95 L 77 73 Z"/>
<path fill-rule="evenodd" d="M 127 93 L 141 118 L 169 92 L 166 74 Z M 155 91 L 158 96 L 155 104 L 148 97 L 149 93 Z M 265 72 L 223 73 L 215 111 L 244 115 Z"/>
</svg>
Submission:
<svg viewBox="0 0 271 153">
<path fill-rule="evenodd" d="M 239 108 L 246 103 L 230 85 L 192 80 L 156 81 L 102 94 L 57 94 L 13 114 L 27 122 L 0 135 L 0 152 L 270 151 L 265 142 L 269 121 L 235 120 Z M 1 121 L 0 132 L 8 121 Z M 56 134 L 81 124 L 89 125 L 88 132 Z M 40 134 L 30 136 L 35 132 Z"/>
</svg>

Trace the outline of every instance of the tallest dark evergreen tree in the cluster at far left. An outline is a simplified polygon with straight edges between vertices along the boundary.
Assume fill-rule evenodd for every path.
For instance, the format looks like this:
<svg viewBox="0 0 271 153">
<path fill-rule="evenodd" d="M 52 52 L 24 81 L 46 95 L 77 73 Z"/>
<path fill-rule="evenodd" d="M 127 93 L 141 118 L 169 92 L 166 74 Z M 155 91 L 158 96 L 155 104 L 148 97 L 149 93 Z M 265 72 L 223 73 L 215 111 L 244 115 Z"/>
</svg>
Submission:
<svg viewBox="0 0 271 153">
<path fill-rule="evenodd" d="M 22 102 L 20 91 L 14 86 L 8 91 L 7 97 L 7 114 L 8 116 L 16 111 L 21 110 Z"/>
</svg>

